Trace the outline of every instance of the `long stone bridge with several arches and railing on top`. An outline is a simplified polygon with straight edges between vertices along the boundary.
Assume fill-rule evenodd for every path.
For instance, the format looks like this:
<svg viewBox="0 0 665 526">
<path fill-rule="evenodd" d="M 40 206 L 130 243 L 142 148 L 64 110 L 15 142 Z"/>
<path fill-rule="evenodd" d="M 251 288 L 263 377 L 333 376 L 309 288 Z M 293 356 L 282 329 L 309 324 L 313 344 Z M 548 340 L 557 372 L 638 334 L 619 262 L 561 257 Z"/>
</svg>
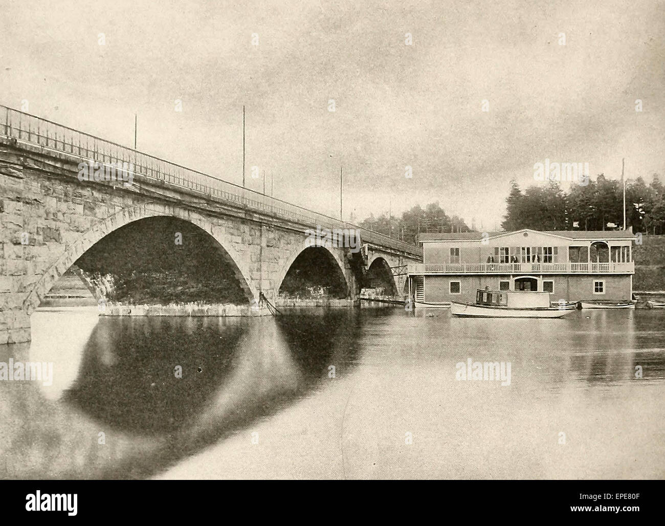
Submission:
<svg viewBox="0 0 665 526">
<path fill-rule="evenodd" d="M 81 168 L 106 168 L 85 180 Z M 97 163 L 97 164 L 94 164 Z M 130 176 L 108 180 L 109 166 Z M 112 172 L 111 172 L 112 173 Z M 113 179 L 111 177 L 111 179 Z M 319 247 L 349 301 L 381 285 L 402 297 L 405 265 L 422 250 L 65 126 L 0 106 L 0 344 L 30 339 L 30 316 L 72 264 L 124 225 L 176 217 L 214 241 L 251 315 L 267 314 L 311 231 L 346 231 L 357 245 Z"/>
</svg>

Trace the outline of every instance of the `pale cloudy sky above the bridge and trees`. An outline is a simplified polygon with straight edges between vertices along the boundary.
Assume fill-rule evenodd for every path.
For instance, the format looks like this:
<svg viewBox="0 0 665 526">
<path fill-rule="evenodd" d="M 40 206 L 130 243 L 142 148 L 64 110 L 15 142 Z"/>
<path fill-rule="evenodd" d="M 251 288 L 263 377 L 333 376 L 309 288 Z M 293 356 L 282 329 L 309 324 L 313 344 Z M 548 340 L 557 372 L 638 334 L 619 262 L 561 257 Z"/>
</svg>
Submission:
<svg viewBox="0 0 665 526">
<path fill-rule="evenodd" d="M 662 1 L 0 0 L 0 104 L 126 146 L 136 114 L 236 184 L 244 105 L 249 188 L 337 216 L 341 166 L 344 219 L 496 229 L 546 158 L 665 176 L 664 35 Z"/>
</svg>

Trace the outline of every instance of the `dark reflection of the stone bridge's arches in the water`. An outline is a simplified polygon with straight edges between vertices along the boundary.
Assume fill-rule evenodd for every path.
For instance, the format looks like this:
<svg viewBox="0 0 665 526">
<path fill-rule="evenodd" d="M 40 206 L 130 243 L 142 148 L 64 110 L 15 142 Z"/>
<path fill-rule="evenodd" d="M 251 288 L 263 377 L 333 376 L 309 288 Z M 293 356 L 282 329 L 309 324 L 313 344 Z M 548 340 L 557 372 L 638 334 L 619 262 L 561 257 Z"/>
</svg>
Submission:
<svg viewBox="0 0 665 526">
<path fill-rule="evenodd" d="M 73 321 L 74 339 L 59 330 Z M 96 308 L 38 312 L 35 326 L 31 345 L 2 347 L 54 362 L 51 386 L 0 386 L 9 477 L 148 476 L 306 396 L 330 364 L 354 362 L 360 327 L 348 309 L 98 319 Z"/>
</svg>

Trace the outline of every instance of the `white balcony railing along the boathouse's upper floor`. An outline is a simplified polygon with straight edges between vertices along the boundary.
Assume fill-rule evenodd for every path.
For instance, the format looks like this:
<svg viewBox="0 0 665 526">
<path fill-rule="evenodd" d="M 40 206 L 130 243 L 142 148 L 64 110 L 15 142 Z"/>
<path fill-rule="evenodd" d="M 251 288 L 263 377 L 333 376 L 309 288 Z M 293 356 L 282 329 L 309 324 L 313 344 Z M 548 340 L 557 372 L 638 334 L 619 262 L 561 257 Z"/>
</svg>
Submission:
<svg viewBox="0 0 665 526">
<path fill-rule="evenodd" d="M 635 263 L 427 263 L 409 274 L 632 274 Z"/>
</svg>

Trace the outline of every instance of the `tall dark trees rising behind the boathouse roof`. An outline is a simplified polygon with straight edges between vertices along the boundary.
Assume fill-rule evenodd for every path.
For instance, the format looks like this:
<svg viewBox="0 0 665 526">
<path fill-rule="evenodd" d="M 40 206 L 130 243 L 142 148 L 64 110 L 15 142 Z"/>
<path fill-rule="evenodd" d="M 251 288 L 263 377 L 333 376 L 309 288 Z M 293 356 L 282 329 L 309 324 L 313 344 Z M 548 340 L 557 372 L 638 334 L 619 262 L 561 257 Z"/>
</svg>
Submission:
<svg viewBox="0 0 665 526">
<path fill-rule="evenodd" d="M 622 227 L 623 196 L 620 181 L 600 174 L 586 186 L 573 184 L 565 193 L 557 182 L 529 186 L 521 191 L 515 181 L 506 198 L 505 230 L 606 230 Z M 634 232 L 663 233 L 665 187 L 654 174 L 651 184 L 642 178 L 626 181 L 626 227 Z"/>
</svg>

